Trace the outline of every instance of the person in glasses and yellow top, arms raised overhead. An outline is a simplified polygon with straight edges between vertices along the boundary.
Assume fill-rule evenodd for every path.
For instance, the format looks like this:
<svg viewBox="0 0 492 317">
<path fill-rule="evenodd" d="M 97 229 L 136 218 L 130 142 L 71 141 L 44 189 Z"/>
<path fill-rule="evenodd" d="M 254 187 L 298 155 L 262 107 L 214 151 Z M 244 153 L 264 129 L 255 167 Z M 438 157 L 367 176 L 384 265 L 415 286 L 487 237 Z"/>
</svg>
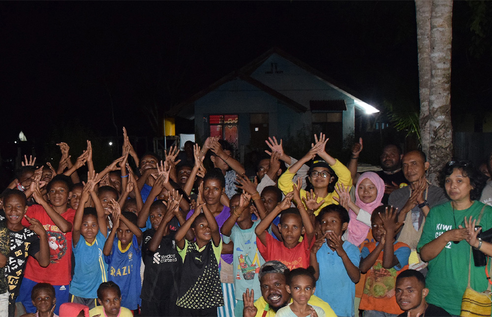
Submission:
<svg viewBox="0 0 492 317">
<path fill-rule="evenodd" d="M 338 197 L 338 194 L 334 191 L 336 184 L 343 184 L 345 186 L 352 184 L 350 171 L 345 165 L 326 153 L 325 146 L 327 141 L 328 139 L 323 133 L 319 134 L 319 139 L 317 135 L 314 135 L 315 143 L 311 143 L 309 152 L 302 159 L 290 166 L 278 179 L 278 188 L 286 195 L 292 191 L 292 180 L 301 166 L 314 159 L 316 155 L 319 156 L 321 159 L 314 160 L 307 172 L 309 182 L 313 187 L 311 192 L 301 189 L 301 197 L 305 202 L 307 201 L 306 209 L 308 212 L 313 212 L 314 215 L 318 215 L 319 211 L 325 206 L 338 204 L 333 199 L 333 197 Z M 336 181 L 337 177 L 338 181 Z M 306 198 L 306 196 L 308 197 Z"/>
</svg>

